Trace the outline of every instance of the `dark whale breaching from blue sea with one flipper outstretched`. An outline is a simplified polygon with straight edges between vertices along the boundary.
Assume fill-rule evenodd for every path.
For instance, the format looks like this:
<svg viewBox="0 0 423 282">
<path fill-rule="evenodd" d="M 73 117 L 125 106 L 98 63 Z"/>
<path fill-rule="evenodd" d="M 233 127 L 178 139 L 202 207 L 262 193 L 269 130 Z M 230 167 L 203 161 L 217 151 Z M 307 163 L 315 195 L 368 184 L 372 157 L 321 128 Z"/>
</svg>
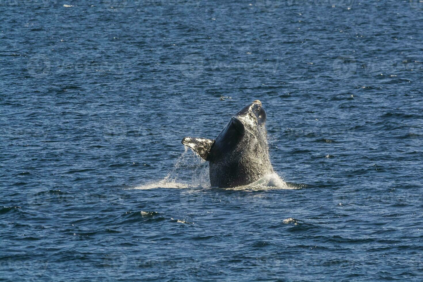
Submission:
<svg viewBox="0 0 423 282">
<path fill-rule="evenodd" d="M 245 186 L 274 173 L 267 143 L 266 112 L 259 100 L 233 115 L 216 138 L 184 137 L 182 144 L 209 162 L 212 187 Z"/>
</svg>

